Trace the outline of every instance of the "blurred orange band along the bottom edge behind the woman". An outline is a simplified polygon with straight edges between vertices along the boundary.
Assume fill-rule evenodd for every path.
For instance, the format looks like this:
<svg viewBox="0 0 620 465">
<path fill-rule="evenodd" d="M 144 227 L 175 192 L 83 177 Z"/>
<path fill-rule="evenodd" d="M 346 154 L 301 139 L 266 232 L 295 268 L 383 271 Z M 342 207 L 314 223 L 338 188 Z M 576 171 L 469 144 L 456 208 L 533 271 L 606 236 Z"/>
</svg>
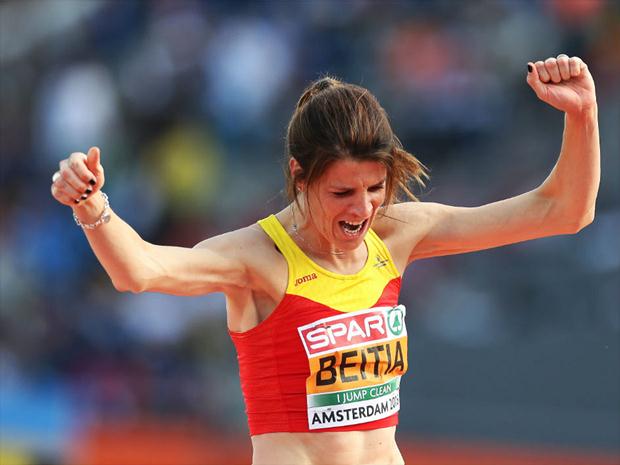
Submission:
<svg viewBox="0 0 620 465">
<path fill-rule="evenodd" d="M 581 450 L 402 439 L 399 447 L 407 465 L 620 465 L 618 454 Z M 241 465 L 251 460 L 246 436 L 188 422 L 150 421 L 83 432 L 68 451 L 67 465 Z"/>
</svg>

